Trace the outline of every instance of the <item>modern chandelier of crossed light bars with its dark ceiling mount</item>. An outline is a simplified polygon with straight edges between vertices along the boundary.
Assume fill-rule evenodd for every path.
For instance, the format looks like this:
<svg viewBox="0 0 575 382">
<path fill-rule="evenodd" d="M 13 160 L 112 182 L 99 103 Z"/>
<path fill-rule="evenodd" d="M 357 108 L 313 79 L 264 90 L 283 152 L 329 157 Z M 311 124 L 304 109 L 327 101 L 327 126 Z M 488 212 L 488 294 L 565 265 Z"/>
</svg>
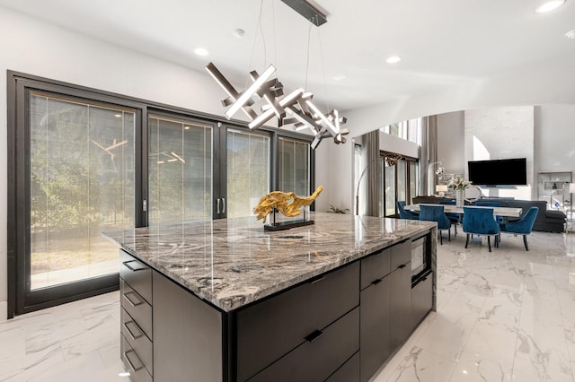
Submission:
<svg viewBox="0 0 575 382">
<path fill-rule="evenodd" d="M 327 22 L 323 13 L 305 1 L 282 1 L 316 26 Z M 206 70 L 228 95 L 222 100 L 222 105 L 229 107 L 226 110 L 227 119 L 231 119 L 242 110 L 250 119 L 248 125 L 250 129 L 257 129 L 271 118 L 277 117 L 278 127 L 294 125 L 296 131 L 309 129 L 314 135 L 312 149 L 315 149 L 322 139 L 327 137 L 333 137 L 333 142 L 337 144 L 346 143 L 344 135 L 348 135 L 349 130 L 341 128 L 341 125 L 346 123 L 346 118 L 340 117 L 336 109 L 323 114 L 312 102 L 314 95 L 311 91 L 297 88 L 285 95 L 283 84 L 277 78 L 271 78 L 271 75 L 276 72 L 274 65 L 269 65 L 261 75 L 256 71 L 250 72 L 252 84 L 244 91 L 236 91 L 213 63 L 210 62 Z M 261 108 L 255 108 L 256 103 L 261 103 Z"/>
</svg>

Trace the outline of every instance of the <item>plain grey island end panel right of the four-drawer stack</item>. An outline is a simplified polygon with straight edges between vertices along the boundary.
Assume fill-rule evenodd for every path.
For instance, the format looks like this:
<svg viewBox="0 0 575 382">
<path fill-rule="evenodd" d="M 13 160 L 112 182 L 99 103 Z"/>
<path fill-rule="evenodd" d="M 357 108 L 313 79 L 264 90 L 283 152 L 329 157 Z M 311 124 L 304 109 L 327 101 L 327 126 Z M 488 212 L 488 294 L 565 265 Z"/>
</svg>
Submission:
<svg viewBox="0 0 575 382">
<path fill-rule="evenodd" d="M 154 380 L 224 380 L 221 313 L 160 273 L 153 284 Z"/>
</svg>

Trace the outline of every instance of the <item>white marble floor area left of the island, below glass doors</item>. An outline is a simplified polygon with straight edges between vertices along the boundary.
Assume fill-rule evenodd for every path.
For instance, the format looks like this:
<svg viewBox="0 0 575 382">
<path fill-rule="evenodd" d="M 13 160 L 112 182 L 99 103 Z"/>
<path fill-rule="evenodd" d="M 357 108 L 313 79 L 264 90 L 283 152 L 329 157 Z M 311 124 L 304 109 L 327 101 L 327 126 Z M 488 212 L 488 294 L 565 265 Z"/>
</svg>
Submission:
<svg viewBox="0 0 575 382">
<path fill-rule="evenodd" d="M 0 322 L 0 381 L 128 382 L 119 323 L 118 291 Z"/>
</svg>

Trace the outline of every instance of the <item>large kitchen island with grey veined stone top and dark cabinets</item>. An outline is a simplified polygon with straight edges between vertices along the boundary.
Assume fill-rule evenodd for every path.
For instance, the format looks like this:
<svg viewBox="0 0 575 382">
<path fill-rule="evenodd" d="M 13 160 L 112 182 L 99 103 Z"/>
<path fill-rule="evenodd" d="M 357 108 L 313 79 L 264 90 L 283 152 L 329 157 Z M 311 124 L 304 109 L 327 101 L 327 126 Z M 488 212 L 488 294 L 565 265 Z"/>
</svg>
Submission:
<svg viewBox="0 0 575 382">
<path fill-rule="evenodd" d="M 436 225 L 311 218 L 276 232 L 253 217 L 107 232 L 131 378 L 371 377 L 435 309 Z"/>
</svg>

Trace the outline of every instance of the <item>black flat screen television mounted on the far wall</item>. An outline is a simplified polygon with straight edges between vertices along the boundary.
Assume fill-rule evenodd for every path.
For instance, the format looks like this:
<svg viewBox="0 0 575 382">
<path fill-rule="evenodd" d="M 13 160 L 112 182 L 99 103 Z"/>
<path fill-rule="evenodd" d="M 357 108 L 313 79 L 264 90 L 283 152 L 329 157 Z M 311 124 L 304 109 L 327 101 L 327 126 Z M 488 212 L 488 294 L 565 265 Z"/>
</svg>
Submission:
<svg viewBox="0 0 575 382">
<path fill-rule="evenodd" d="M 525 158 L 495 161 L 468 161 L 469 181 L 474 186 L 503 187 L 526 186 Z"/>
</svg>

